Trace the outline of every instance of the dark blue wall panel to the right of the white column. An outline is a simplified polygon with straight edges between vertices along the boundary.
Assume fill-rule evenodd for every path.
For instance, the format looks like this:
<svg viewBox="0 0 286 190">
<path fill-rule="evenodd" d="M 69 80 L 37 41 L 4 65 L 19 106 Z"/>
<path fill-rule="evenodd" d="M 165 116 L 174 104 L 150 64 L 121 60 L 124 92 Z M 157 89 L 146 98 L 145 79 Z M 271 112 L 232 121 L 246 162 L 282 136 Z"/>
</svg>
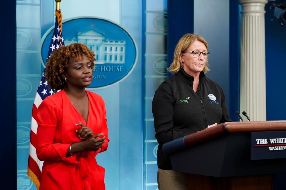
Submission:
<svg viewBox="0 0 286 190">
<path fill-rule="evenodd" d="M 286 28 L 280 26 L 276 17 L 271 21 L 272 3 L 265 6 L 266 117 L 267 120 L 286 120 Z"/>
</svg>

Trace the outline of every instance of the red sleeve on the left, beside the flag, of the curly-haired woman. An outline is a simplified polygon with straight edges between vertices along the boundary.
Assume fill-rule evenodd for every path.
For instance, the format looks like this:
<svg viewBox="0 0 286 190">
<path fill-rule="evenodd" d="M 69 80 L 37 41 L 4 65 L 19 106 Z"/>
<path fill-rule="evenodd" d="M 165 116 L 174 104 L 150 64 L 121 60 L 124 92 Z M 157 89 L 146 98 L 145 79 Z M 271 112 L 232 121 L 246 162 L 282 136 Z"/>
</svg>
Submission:
<svg viewBox="0 0 286 190">
<path fill-rule="evenodd" d="M 64 160 L 73 162 L 65 157 L 70 144 L 55 143 L 55 132 L 58 125 L 59 109 L 50 99 L 45 99 L 38 107 L 36 151 L 39 160 Z M 76 160 L 74 160 L 76 161 Z"/>
</svg>

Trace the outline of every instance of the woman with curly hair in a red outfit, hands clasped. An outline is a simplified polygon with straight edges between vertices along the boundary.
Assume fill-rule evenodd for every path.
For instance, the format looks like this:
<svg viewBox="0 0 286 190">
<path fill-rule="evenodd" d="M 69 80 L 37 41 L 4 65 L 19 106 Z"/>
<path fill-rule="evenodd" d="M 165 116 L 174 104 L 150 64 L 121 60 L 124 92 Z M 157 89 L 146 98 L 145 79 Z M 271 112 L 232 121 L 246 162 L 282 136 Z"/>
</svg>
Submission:
<svg viewBox="0 0 286 190">
<path fill-rule="evenodd" d="M 104 168 L 95 156 L 107 149 L 104 100 L 85 90 L 92 80 L 95 54 L 75 43 L 56 50 L 46 63 L 51 89 L 60 90 L 38 107 L 36 151 L 44 160 L 40 188 L 105 189 Z"/>
</svg>

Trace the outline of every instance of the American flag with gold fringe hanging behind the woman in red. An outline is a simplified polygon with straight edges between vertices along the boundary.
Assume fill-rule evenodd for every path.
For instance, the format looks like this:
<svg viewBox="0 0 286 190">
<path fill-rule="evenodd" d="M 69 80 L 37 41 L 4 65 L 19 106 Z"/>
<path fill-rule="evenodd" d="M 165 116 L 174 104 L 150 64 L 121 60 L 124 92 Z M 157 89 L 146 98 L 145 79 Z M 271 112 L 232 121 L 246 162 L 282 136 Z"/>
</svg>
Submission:
<svg viewBox="0 0 286 190">
<path fill-rule="evenodd" d="M 53 54 L 55 49 L 60 48 L 63 43 L 63 35 L 62 35 L 62 15 L 61 9 L 55 11 L 55 29 L 53 32 L 53 37 L 51 39 L 51 43 L 49 46 L 49 53 L 47 59 Z M 46 80 L 45 70 L 43 71 L 43 75 L 41 81 L 39 83 L 39 87 L 36 93 L 36 97 L 33 104 L 33 111 L 32 111 L 32 120 L 31 120 L 31 132 L 30 132 L 30 147 L 29 147 L 29 158 L 28 158 L 28 171 L 27 175 L 35 183 L 37 189 L 39 189 L 40 181 L 41 181 L 41 171 L 43 166 L 43 161 L 40 161 L 37 157 L 36 153 L 36 136 L 37 136 L 37 109 L 39 105 L 43 102 L 43 100 L 55 93 L 52 90 Z"/>
</svg>

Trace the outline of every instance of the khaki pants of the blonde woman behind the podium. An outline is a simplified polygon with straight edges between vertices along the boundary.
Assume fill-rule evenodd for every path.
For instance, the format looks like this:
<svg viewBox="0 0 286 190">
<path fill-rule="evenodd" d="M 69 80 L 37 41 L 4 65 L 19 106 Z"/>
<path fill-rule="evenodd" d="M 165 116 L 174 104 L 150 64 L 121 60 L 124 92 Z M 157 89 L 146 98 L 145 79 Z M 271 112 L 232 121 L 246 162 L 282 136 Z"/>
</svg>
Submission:
<svg viewBox="0 0 286 190">
<path fill-rule="evenodd" d="M 188 190 L 186 173 L 158 168 L 157 182 L 159 190 Z"/>
</svg>

